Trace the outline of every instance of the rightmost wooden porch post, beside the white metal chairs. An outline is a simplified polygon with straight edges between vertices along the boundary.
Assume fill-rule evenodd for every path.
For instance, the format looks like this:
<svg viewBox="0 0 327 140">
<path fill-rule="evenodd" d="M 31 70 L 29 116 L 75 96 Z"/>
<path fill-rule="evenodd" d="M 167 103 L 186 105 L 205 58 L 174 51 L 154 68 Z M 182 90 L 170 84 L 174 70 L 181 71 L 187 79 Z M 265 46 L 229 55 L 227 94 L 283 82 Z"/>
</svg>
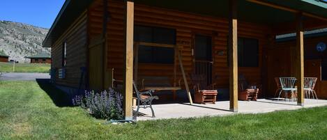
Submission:
<svg viewBox="0 0 327 140">
<path fill-rule="evenodd" d="M 303 53 L 303 13 L 296 14 L 296 79 L 298 86 L 298 105 L 304 105 L 304 53 Z"/>
</svg>

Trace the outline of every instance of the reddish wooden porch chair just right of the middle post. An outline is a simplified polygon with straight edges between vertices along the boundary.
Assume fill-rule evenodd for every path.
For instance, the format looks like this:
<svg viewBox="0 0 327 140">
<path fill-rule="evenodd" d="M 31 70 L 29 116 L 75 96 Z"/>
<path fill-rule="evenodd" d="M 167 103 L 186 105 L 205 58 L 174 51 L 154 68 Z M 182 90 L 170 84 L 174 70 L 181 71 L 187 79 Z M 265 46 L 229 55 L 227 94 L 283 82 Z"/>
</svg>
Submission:
<svg viewBox="0 0 327 140">
<path fill-rule="evenodd" d="M 260 91 L 260 85 L 252 84 L 249 86 L 243 75 L 238 76 L 238 100 L 254 100 L 257 101 Z"/>
</svg>

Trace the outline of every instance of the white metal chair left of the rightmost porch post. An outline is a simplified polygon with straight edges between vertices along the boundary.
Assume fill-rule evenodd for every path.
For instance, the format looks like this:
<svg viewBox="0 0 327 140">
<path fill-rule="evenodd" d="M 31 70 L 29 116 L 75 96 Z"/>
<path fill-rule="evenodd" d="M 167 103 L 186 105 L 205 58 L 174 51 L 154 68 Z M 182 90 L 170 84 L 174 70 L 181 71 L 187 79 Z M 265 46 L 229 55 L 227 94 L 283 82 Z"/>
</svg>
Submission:
<svg viewBox="0 0 327 140">
<path fill-rule="evenodd" d="M 282 94 L 282 92 L 285 93 L 285 98 L 284 98 L 285 100 L 287 99 L 288 93 L 291 93 L 291 98 L 292 98 L 293 95 L 295 95 L 295 91 L 297 90 L 294 86 L 295 83 L 296 83 L 295 77 L 280 77 L 280 84 L 282 86 L 282 90 L 280 91 L 277 100 L 280 100 L 280 95 Z"/>
</svg>

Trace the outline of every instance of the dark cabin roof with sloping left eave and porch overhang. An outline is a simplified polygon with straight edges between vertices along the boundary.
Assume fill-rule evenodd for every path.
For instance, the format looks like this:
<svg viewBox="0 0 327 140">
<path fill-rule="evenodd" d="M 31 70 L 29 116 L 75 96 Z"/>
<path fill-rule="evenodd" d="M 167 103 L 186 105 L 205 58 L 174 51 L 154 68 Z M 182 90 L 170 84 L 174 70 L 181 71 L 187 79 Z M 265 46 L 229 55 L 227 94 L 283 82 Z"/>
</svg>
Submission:
<svg viewBox="0 0 327 140">
<path fill-rule="evenodd" d="M 51 47 L 54 40 L 57 40 L 61 34 L 68 29 L 79 15 L 94 0 L 66 0 L 57 15 L 54 24 L 47 33 L 43 42 L 43 47 Z M 144 4 L 147 6 L 157 6 L 160 8 L 169 8 L 189 13 L 197 13 L 213 17 L 228 17 L 228 0 L 134 0 L 135 3 Z M 319 17 L 327 18 L 327 3 L 324 0 L 261 0 L 268 3 L 273 3 L 279 6 L 284 6 L 294 10 L 301 10 Z M 238 19 L 245 22 L 256 22 L 261 24 L 280 24 L 284 22 L 293 22 L 295 14 L 285 10 L 279 10 L 268 6 L 262 6 L 257 3 L 252 3 L 250 0 L 238 1 Z"/>
</svg>

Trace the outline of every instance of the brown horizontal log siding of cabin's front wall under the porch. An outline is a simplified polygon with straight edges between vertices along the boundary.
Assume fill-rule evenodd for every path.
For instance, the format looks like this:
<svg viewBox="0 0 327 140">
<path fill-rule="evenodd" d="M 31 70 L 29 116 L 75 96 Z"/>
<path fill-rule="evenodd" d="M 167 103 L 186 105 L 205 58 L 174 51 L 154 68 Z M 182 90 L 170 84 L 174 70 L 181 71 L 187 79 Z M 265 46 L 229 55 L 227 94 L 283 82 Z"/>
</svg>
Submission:
<svg viewBox="0 0 327 140">
<path fill-rule="evenodd" d="M 90 36 L 94 37 L 101 33 L 102 26 L 102 4 L 94 4 L 90 10 Z M 109 1 L 110 21 L 108 23 L 108 68 L 114 68 L 114 77 L 122 79 L 123 74 L 123 3 L 119 1 Z M 229 86 L 229 68 L 227 67 L 227 34 L 228 20 L 218 17 L 207 17 L 191 13 L 183 13 L 174 10 L 166 10 L 143 6 L 135 3 L 135 24 L 162 26 L 176 29 L 176 42 L 181 45 L 183 52 L 183 65 L 185 72 L 192 73 L 192 35 L 193 33 L 211 33 L 213 36 L 213 82 L 220 88 Z M 268 26 L 240 22 L 238 26 L 238 35 L 247 38 L 257 38 L 259 40 L 259 67 L 258 68 L 239 68 L 240 74 L 245 75 L 248 81 L 261 82 L 261 57 L 262 47 L 267 45 L 267 35 L 271 31 Z M 216 53 L 223 51 L 223 56 Z M 181 72 L 178 70 L 178 79 L 181 78 Z M 139 63 L 139 75 L 144 76 L 167 76 L 173 77 L 174 65 L 167 64 L 145 64 Z M 173 78 L 172 78 L 173 79 Z"/>
</svg>

